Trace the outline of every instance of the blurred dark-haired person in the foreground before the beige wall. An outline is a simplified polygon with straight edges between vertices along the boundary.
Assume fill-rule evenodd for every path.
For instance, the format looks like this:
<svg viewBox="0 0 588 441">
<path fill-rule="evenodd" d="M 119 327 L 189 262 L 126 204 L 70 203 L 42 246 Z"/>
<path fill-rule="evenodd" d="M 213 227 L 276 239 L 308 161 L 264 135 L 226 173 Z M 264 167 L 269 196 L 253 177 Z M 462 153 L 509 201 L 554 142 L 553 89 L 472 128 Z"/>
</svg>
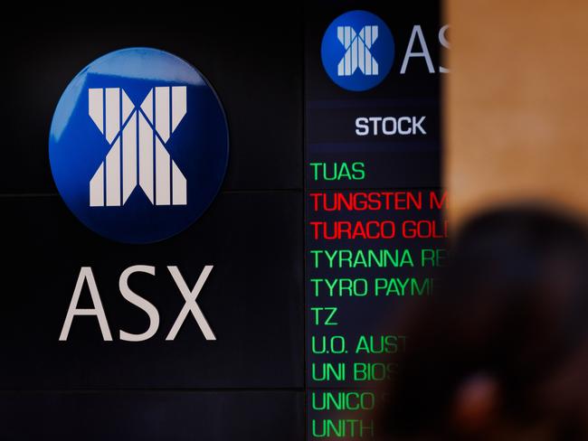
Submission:
<svg viewBox="0 0 588 441">
<path fill-rule="evenodd" d="M 588 440 L 585 225 L 504 208 L 457 238 L 440 291 L 403 312 L 383 439 Z"/>
</svg>

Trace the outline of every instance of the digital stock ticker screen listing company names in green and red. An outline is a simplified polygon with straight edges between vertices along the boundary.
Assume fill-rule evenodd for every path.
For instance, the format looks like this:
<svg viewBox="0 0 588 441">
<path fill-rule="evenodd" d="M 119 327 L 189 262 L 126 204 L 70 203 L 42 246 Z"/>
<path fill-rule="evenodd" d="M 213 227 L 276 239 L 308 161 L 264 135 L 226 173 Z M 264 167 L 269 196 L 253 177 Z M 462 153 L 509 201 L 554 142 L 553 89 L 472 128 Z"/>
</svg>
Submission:
<svg viewBox="0 0 588 441">
<path fill-rule="evenodd" d="M 411 344 L 394 311 L 432 296 L 447 257 L 448 28 L 432 4 L 334 16 L 331 4 L 306 23 L 307 439 L 377 439 L 384 384 Z"/>
</svg>

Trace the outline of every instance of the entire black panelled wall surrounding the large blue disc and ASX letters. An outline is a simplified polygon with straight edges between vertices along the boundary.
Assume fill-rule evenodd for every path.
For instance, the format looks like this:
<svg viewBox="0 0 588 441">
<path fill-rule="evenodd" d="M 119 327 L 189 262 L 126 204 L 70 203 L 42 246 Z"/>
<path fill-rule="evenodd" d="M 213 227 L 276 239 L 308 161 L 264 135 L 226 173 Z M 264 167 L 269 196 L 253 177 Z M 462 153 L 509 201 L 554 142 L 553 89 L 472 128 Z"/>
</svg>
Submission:
<svg viewBox="0 0 588 441">
<path fill-rule="evenodd" d="M 125 6 L 3 17 L 0 438 L 301 439 L 302 7 Z M 143 246 L 86 229 L 57 194 L 48 157 L 62 91 L 90 61 L 131 46 L 200 70 L 230 136 L 213 205 L 174 238 Z M 148 326 L 119 293 L 120 273 L 134 265 L 156 267 L 129 286 L 156 305 L 160 324 L 146 342 L 121 342 L 119 330 Z M 192 287 L 205 265 L 213 271 L 197 304 L 216 340 L 189 314 L 166 342 L 185 304 L 166 267 Z M 74 318 L 59 341 L 81 267 L 92 268 L 112 342 L 95 317 Z M 91 306 L 87 286 L 81 298 Z"/>
</svg>

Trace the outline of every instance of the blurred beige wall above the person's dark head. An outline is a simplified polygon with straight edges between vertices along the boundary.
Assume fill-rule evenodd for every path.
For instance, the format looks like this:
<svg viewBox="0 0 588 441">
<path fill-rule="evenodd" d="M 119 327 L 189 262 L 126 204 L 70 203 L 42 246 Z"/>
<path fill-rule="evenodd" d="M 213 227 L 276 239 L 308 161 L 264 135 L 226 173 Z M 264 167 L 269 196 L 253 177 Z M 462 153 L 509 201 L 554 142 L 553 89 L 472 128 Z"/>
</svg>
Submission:
<svg viewBox="0 0 588 441">
<path fill-rule="evenodd" d="M 500 202 L 588 214 L 588 1 L 447 0 L 450 220 Z"/>
</svg>

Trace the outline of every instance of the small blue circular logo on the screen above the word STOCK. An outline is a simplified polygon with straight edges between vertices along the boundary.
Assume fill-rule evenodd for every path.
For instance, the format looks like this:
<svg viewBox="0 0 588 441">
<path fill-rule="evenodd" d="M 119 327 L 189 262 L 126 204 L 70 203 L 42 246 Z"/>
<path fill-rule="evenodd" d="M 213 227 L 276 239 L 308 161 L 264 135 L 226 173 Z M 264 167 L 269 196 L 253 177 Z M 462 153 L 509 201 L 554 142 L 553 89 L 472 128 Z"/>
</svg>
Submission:
<svg viewBox="0 0 588 441">
<path fill-rule="evenodd" d="M 339 87 L 375 88 L 390 72 L 394 38 L 386 23 L 366 11 L 350 11 L 329 24 L 320 47 L 323 66 Z"/>
</svg>

